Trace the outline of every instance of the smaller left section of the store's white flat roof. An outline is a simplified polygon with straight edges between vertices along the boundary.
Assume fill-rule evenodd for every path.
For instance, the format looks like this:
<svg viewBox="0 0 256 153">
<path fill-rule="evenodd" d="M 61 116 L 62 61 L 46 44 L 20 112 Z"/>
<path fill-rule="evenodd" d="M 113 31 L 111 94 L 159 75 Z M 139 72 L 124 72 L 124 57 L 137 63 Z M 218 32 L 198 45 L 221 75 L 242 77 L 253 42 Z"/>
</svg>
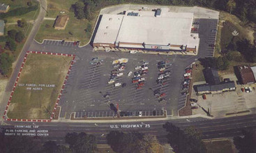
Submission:
<svg viewBox="0 0 256 153">
<path fill-rule="evenodd" d="M 94 38 L 95 43 L 114 43 L 119 32 L 123 15 L 103 15 L 98 31 Z"/>
</svg>

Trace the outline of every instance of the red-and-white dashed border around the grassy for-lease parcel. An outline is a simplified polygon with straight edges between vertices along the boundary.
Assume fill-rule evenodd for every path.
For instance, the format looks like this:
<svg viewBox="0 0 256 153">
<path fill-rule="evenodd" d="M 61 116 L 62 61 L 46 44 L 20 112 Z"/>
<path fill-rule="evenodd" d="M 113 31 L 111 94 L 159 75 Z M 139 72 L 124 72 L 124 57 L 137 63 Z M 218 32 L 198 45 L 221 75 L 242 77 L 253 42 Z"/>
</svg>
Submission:
<svg viewBox="0 0 256 153">
<path fill-rule="evenodd" d="M 8 109 L 8 106 L 10 105 L 10 101 L 13 97 L 13 92 L 15 91 L 15 88 L 17 86 L 17 81 L 19 81 L 19 78 L 20 78 L 20 74 L 22 72 L 22 68 L 24 66 L 24 63 L 26 62 L 27 60 L 27 56 L 28 54 L 48 54 L 48 55 L 57 55 L 57 56 L 72 56 L 72 61 L 70 63 L 70 66 L 69 66 L 69 69 L 68 69 L 68 73 L 66 74 L 66 78 L 63 82 L 63 85 L 61 87 L 61 92 L 59 93 L 59 96 L 58 96 L 58 99 L 57 99 L 57 102 L 55 103 L 55 106 L 54 106 L 54 109 L 52 111 L 52 115 L 50 117 L 50 120 L 31 120 L 31 119 L 13 119 L 13 118 L 7 118 L 6 116 L 6 113 L 7 113 L 7 109 Z M 74 60 L 75 60 L 75 55 L 73 54 L 62 54 L 62 53 L 50 53 L 50 52 L 44 52 L 44 51 L 27 51 L 27 53 L 25 54 L 24 56 L 24 59 L 23 59 L 23 62 L 22 62 L 22 66 L 20 67 L 20 71 L 19 71 L 19 74 L 17 75 L 17 78 L 15 80 L 15 84 L 13 86 L 13 90 L 12 92 L 10 93 L 10 97 L 9 97 L 9 100 L 8 100 L 8 104 L 6 106 L 6 110 L 4 111 L 3 113 L 3 119 L 4 120 L 7 120 L 7 121 L 22 121 L 22 122 L 51 122 L 52 121 L 52 118 L 54 117 L 54 114 L 55 114 L 55 111 L 56 111 L 56 108 L 57 108 L 57 105 L 59 104 L 59 100 L 61 98 L 61 93 L 66 85 L 66 82 L 68 80 L 68 75 L 70 74 L 70 71 L 71 71 L 71 67 L 72 65 L 74 64 Z"/>
</svg>

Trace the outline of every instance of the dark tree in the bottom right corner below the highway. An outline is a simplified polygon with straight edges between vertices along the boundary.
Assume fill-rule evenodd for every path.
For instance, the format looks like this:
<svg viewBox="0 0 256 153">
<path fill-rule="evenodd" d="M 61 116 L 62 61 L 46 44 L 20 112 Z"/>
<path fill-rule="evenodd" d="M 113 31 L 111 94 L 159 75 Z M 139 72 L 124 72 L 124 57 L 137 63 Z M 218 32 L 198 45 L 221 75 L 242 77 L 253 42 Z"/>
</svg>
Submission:
<svg viewBox="0 0 256 153">
<path fill-rule="evenodd" d="M 234 145 L 236 149 L 239 150 L 239 153 L 250 153 L 256 152 L 256 135 L 255 131 L 242 131 L 243 137 L 235 136 L 233 138 Z"/>
</svg>

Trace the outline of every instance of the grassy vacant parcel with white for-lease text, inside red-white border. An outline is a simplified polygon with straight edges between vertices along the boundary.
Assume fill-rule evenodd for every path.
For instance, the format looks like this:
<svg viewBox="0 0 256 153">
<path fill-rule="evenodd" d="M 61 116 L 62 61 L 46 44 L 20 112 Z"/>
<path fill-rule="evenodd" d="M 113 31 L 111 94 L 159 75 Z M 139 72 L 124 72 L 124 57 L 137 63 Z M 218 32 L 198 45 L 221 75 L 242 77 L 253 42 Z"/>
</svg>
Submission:
<svg viewBox="0 0 256 153">
<path fill-rule="evenodd" d="M 71 60 L 70 56 L 29 54 L 8 107 L 8 118 L 49 119 Z"/>
</svg>

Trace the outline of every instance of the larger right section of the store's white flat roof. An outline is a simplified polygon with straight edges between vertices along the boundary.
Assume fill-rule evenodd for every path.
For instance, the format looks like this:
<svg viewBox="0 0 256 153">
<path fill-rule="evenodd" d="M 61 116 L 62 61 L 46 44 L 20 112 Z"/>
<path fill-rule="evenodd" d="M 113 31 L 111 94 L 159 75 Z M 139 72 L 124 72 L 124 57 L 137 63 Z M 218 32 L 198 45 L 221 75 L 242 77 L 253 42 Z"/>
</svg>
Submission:
<svg viewBox="0 0 256 153">
<path fill-rule="evenodd" d="M 116 42 L 150 45 L 186 45 L 190 37 L 190 18 L 124 16 Z"/>
</svg>

